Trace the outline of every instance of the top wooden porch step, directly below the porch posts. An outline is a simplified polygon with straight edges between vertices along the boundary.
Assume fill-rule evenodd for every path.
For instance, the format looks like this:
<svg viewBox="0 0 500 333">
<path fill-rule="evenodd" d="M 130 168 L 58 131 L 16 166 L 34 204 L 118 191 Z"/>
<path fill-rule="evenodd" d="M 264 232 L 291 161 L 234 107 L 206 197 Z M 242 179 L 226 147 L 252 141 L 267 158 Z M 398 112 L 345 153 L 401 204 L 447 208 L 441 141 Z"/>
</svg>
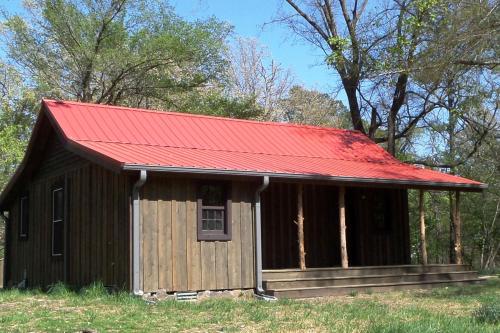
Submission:
<svg viewBox="0 0 500 333">
<path fill-rule="evenodd" d="M 466 272 L 471 268 L 468 265 L 393 265 L 393 266 L 363 266 L 330 268 L 300 269 L 266 269 L 262 271 L 264 280 L 293 279 L 293 278 L 338 278 L 362 277 L 367 275 L 396 275 L 396 274 L 423 274 L 423 273 L 451 273 Z"/>
</svg>

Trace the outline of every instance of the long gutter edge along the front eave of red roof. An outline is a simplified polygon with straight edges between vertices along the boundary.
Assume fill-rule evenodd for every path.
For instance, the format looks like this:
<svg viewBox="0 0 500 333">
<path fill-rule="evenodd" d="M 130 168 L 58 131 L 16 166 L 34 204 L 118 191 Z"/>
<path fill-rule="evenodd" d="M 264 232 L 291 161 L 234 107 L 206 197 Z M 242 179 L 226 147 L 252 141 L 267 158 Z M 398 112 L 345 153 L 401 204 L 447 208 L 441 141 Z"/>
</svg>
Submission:
<svg viewBox="0 0 500 333">
<path fill-rule="evenodd" d="M 442 191 L 467 191 L 467 192 L 482 192 L 488 188 L 486 184 L 465 184 L 465 183 L 449 183 L 449 182 L 432 182 L 432 181 L 411 181 L 411 180 L 396 180 L 396 179 L 380 179 L 380 178 L 358 178 L 358 177 L 340 177 L 327 176 L 320 174 L 295 174 L 295 173 L 275 173 L 275 172 L 257 172 L 244 170 L 228 170 L 228 169 L 205 169 L 205 168 L 190 168 L 190 167 L 170 167 L 156 165 L 140 165 L 125 163 L 123 170 L 138 171 L 147 170 L 153 172 L 164 173 L 184 173 L 184 174 L 203 174 L 203 175 L 219 175 L 219 176 L 246 176 L 246 177 L 263 177 L 268 176 L 276 180 L 294 180 L 294 181 L 323 181 L 332 184 L 345 184 L 352 186 L 377 186 L 377 187 L 402 187 L 410 189 L 428 189 Z"/>
</svg>

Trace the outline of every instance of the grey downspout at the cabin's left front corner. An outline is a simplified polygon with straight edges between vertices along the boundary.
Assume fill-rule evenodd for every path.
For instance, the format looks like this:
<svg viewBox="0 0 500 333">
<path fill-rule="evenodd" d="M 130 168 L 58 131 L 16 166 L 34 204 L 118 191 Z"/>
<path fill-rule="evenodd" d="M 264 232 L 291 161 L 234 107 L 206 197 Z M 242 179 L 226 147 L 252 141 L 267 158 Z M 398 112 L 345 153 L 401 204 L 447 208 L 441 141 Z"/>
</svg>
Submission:
<svg viewBox="0 0 500 333">
<path fill-rule="evenodd" d="M 139 191 L 146 183 L 147 172 L 141 170 L 139 179 L 132 189 L 132 287 L 134 295 L 141 296 L 144 292 L 141 288 L 141 200 Z"/>
</svg>

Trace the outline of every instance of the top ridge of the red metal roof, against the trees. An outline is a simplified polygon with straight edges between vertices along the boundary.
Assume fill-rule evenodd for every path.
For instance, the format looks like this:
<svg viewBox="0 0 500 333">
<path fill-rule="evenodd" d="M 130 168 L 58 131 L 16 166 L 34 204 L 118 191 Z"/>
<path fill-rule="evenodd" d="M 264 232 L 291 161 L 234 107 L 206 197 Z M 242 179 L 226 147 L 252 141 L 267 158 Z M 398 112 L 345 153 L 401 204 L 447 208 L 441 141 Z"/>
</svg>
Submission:
<svg viewBox="0 0 500 333">
<path fill-rule="evenodd" d="M 134 108 L 129 106 L 120 106 L 120 105 L 111 105 L 111 104 L 97 104 L 97 103 L 86 103 L 86 102 L 77 102 L 77 101 L 67 101 L 67 100 L 54 100 L 54 99 L 42 99 L 42 101 L 54 102 L 60 104 L 75 104 L 75 105 L 86 105 L 104 109 L 121 109 L 132 112 L 146 112 L 146 113 L 158 113 L 170 116 L 178 116 L 178 117 L 197 117 L 197 118 L 208 118 L 215 119 L 221 121 L 234 121 L 234 122 L 243 122 L 243 123 L 253 123 L 260 125 L 270 125 L 270 126 L 284 126 L 284 127 L 295 127 L 295 128 L 308 128 L 313 130 L 323 130 L 323 131 L 331 131 L 331 132 L 350 132 L 353 134 L 363 134 L 361 131 L 346 129 L 346 128 L 337 128 L 337 127 L 326 127 L 326 126 L 316 126 L 316 125 L 304 125 L 304 124 L 295 124 L 295 123 L 287 123 L 287 122 L 277 122 L 277 121 L 261 121 L 261 120 L 252 120 L 252 119 L 240 119 L 240 118 L 229 118 L 229 117 L 221 117 L 221 116 L 210 116 L 198 113 L 187 113 L 187 112 L 179 112 L 172 110 L 158 110 L 158 109 L 144 109 L 144 108 Z M 364 135 L 363 135 L 364 136 Z"/>
</svg>

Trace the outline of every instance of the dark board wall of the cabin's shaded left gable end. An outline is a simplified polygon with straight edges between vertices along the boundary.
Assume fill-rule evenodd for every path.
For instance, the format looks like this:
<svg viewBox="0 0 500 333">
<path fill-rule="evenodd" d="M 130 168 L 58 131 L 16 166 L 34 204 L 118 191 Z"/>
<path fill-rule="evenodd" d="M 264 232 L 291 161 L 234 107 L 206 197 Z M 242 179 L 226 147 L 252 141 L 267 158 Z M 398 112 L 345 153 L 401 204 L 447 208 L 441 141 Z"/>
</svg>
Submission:
<svg viewBox="0 0 500 333">
<path fill-rule="evenodd" d="M 66 183 L 67 266 L 51 255 L 52 193 Z M 29 235 L 19 239 L 19 198 L 10 207 L 8 280 L 26 278 L 30 287 L 57 281 L 84 286 L 93 281 L 129 287 L 129 180 L 66 151 L 54 134 L 33 177 L 20 193 L 29 195 Z"/>
</svg>

